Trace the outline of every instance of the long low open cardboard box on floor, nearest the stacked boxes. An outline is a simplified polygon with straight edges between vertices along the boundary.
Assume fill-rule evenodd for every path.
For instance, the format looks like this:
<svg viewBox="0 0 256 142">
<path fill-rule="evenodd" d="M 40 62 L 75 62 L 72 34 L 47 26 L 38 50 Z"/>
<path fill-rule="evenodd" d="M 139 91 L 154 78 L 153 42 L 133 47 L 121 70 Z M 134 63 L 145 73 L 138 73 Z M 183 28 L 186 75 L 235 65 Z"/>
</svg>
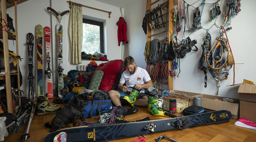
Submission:
<svg viewBox="0 0 256 142">
<path fill-rule="evenodd" d="M 196 95 L 195 97 L 202 97 L 202 107 L 212 110 L 228 110 L 232 114 L 232 118 L 238 119 L 239 117 L 239 100 L 233 99 L 234 103 L 223 102 L 223 98 L 220 96 L 213 96 L 213 95 Z M 214 100 L 215 98 L 219 100 Z"/>
</svg>

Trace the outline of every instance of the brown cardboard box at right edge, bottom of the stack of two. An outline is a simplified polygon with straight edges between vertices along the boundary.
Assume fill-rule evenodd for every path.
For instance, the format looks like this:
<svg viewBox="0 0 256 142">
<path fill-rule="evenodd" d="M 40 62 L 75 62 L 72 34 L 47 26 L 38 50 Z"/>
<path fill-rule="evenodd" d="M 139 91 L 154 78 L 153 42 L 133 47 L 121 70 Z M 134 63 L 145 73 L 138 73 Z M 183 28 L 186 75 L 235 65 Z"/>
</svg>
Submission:
<svg viewBox="0 0 256 142">
<path fill-rule="evenodd" d="M 239 117 L 256 123 L 256 103 L 240 100 Z"/>
</svg>

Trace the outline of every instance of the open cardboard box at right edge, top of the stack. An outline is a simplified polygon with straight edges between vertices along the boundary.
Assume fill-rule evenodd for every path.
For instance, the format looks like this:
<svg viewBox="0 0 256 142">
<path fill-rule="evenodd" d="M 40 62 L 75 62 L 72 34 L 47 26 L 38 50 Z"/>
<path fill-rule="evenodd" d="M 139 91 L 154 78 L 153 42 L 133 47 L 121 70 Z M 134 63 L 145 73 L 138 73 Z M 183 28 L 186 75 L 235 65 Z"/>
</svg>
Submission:
<svg viewBox="0 0 256 142">
<path fill-rule="evenodd" d="M 237 93 L 240 100 L 256 103 L 256 85 L 240 84 Z"/>
</svg>

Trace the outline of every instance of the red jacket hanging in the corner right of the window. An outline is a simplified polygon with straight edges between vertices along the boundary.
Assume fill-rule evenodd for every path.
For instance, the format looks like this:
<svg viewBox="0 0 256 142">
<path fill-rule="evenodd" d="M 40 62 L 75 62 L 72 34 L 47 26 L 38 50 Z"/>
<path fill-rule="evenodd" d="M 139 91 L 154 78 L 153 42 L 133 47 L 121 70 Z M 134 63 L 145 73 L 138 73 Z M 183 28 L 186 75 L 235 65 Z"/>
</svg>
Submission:
<svg viewBox="0 0 256 142">
<path fill-rule="evenodd" d="M 118 46 L 120 46 L 120 42 L 125 41 L 125 43 L 128 43 L 127 37 L 126 37 L 126 22 L 124 18 L 119 17 L 119 21 L 116 23 L 118 25 L 117 29 L 117 37 L 118 37 Z"/>
</svg>

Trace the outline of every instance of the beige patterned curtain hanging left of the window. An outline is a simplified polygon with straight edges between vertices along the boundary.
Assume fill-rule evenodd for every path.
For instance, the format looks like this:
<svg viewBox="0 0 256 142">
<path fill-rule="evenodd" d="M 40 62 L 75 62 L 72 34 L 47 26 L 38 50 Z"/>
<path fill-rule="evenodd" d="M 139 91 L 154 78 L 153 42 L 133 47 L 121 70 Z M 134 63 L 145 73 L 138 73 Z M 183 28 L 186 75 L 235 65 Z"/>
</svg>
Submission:
<svg viewBox="0 0 256 142">
<path fill-rule="evenodd" d="M 71 41 L 71 63 L 82 63 L 81 51 L 83 43 L 83 9 L 80 6 L 72 5 L 70 10 L 70 21 L 68 31 Z"/>
</svg>

